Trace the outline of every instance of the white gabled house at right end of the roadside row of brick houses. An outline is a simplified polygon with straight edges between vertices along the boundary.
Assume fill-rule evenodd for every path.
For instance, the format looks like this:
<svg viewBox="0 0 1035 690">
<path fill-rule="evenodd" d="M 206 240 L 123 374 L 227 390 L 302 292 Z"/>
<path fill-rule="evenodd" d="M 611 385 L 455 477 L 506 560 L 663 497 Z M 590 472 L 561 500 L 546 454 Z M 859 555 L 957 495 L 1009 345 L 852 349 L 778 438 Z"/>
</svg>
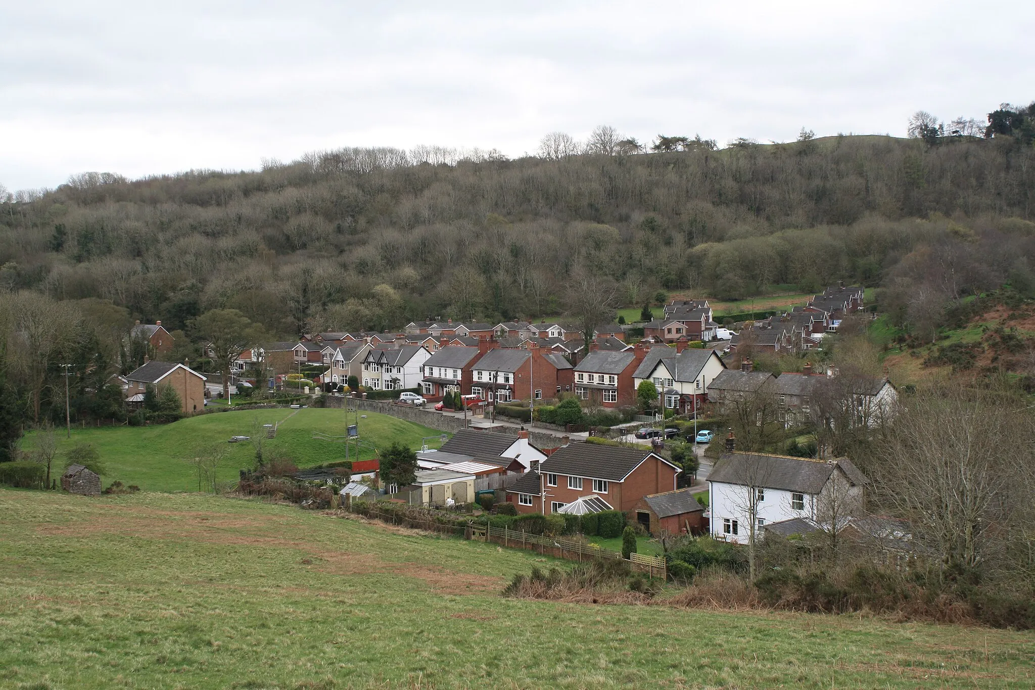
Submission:
<svg viewBox="0 0 1035 690">
<path fill-rule="evenodd" d="M 632 387 L 651 381 L 664 395 L 664 407 L 691 413 L 706 402 L 708 386 L 726 370 L 714 350 L 651 348 L 632 373 Z"/>
</svg>

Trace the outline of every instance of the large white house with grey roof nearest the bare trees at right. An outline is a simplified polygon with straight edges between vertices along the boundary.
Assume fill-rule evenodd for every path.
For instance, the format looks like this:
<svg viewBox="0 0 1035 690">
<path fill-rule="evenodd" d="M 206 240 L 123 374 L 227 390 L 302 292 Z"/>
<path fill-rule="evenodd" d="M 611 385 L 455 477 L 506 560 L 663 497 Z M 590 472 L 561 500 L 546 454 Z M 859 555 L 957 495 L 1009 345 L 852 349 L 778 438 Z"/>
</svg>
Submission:
<svg viewBox="0 0 1035 690">
<path fill-rule="evenodd" d="M 865 482 L 865 475 L 847 457 L 819 460 L 724 453 L 708 477 L 711 534 L 747 543 L 752 512 L 757 539 L 770 522 L 795 518 L 816 522 L 837 513 L 847 517 L 861 509 Z M 751 499 L 751 491 L 757 499 Z M 837 503 L 835 512 L 832 506 Z"/>
</svg>

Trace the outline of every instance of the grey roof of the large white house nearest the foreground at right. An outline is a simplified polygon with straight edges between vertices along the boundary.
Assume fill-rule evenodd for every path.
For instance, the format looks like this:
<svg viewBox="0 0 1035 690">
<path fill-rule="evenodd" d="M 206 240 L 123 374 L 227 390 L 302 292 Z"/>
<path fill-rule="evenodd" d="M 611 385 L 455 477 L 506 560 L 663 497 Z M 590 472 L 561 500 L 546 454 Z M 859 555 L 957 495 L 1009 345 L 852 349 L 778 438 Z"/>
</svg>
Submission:
<svg viewBox="0 0 1035 690">
<path fill-rule="evenodd" d="M 852 484 L 858 486 L 865 483 L 865 475 L 847 457 L 827 462 L 764 453 L 723 453 L 708 481 L 741 486 L 753 483 L 763 488 L 815 496 L 823 489 L 837 467 Z"/>
</svg>

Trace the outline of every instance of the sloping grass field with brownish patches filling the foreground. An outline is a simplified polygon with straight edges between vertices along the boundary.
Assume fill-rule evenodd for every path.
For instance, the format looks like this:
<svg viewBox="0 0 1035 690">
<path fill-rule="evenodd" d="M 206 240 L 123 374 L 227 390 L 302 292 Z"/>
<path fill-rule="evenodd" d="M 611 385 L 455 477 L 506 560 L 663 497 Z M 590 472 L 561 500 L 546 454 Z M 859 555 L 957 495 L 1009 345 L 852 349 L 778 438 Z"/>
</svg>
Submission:
<svg viewBox="0 0 1035 690">
<path fill-rule="evenodd" d="M 1035 684 L 1030 633 L 502 598 L 537 561 L 258 501 L 0 489 L 0 686 Z"/>
</svg>

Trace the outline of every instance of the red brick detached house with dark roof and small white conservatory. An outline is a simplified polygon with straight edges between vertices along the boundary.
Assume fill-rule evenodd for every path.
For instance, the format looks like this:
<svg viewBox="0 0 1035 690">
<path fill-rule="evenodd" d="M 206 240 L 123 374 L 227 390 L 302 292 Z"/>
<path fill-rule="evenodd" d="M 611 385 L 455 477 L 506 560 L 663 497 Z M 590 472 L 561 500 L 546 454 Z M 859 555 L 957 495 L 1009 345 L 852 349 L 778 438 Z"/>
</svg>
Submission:
<svg viewBox="0 0 1035 690">
<path fill-rule="evenodd" d="M 612 508 L 629 512 L 645 496 L 675 490 L 679 472 L 649 448 L 572 443 L 542 460 L 538 473 L 529 472 L 507 488 L 507 501 L 519 512 L 549 514 L 596 496 Z M 530 492 L 535 484 L 538 491 Z"/>
</svg>

